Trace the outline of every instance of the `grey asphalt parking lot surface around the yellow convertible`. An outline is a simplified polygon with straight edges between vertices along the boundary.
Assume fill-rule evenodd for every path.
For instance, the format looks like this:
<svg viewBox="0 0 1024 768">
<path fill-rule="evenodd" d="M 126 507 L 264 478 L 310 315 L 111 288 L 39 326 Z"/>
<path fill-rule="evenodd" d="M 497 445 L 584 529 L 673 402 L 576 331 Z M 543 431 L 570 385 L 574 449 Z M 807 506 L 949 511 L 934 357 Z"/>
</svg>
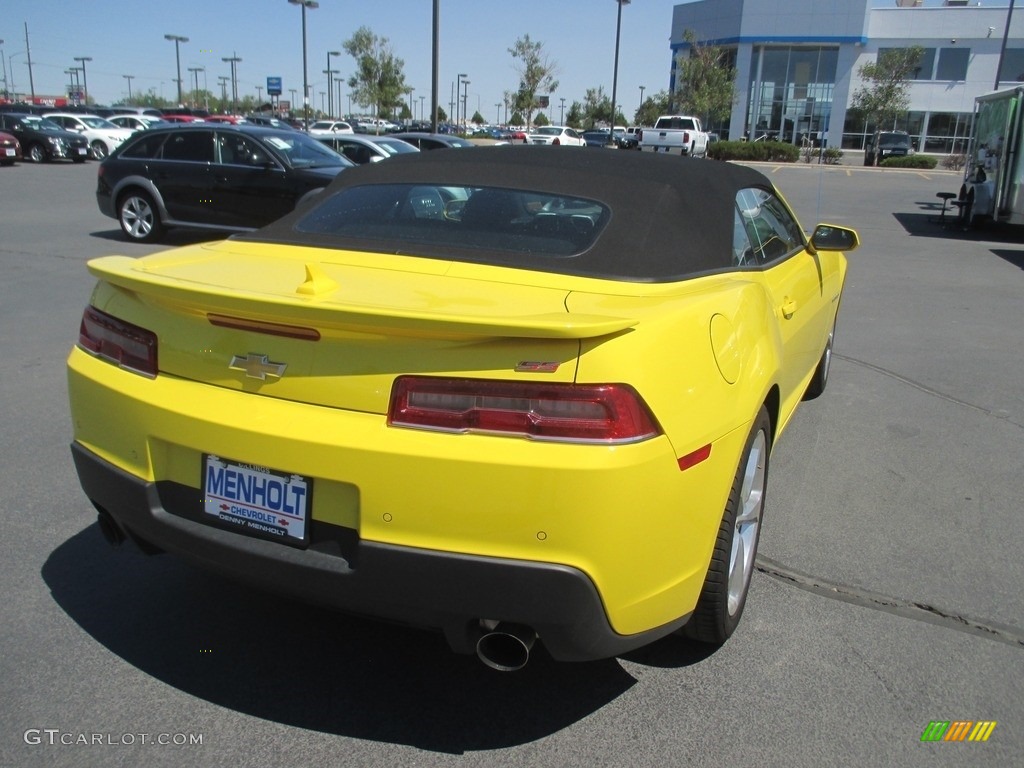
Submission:
<svg viewBox="0 0 1024 768">
<path fill-rule="evenodd" d="M 125 243 L 95 163 L 0 169 L 0 765 L 1024 763 L 1024 233 L 941 225 L 950 172 L 760 168 L 863 245 L 828 389 L 773 453 L 740 628 L 513 675 L 112 551 L 68 450 L 85 261 L 209 236 Z M 923 742 L 934 721 L 996 725 Z"/>
</svg>

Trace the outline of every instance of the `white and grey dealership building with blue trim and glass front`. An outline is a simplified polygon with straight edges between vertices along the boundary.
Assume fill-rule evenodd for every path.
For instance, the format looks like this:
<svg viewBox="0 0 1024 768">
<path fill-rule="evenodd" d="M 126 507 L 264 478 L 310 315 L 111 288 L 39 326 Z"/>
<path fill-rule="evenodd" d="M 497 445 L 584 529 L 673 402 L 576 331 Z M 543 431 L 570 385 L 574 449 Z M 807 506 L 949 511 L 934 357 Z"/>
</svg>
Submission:
<svg viewBox="0 0 1024 768">
<path fill-rule="evenodd" d="M 1024 8 L 1012 0 L 697 0 L 675 6 L 672 74 L 697 44 L 721 46 L 736 70 L 736 99 L 723 136 L 804 136 L 863 148 L 876 128 L 850 109 L 859 68 L 889 49 L 921 46 L 909 111 L 895 126 L 919 152 L 966 147 L 975 96 L 1024 81 Z M 1008 24 L 1009 23 L 1009 24 Z M 1006 43 L 1004 44 L 1004 39 Z M 998 72 L 998 81 L 996 73 Z"/>
</svg>

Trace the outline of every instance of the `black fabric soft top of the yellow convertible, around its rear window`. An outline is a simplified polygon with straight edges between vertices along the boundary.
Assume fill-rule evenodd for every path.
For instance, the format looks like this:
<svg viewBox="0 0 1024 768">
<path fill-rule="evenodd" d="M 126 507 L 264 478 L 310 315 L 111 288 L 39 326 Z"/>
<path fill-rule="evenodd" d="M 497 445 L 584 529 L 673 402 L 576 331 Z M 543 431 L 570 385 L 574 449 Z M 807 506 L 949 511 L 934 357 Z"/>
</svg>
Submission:
<svg viewBox="0 0 1024 768">
<path fill-rule="evenodd" d="M 583 150 L 564 146 L 508 145 L 478 152 L 440 150 L 401 155 L 351 168 L 327 187 L 323 200 L 237 240 L 407 253 L 408 243 L 300 231 L 295 224 L 334 193 L 367 184 L 490 186 L 586 198 L 611 215 L 583 253 L 552 261 L 518 256 L 515 266 L 567 274 L 633 282 L 670 282 L 733 268 L 736 194 L 773 189 L 760 172 L 710 160 L 653 153 Z M 507 254 L 416 252 L 509 264 Z M 536 263 L 535 263 L 536 262 Z"/>
</svg>

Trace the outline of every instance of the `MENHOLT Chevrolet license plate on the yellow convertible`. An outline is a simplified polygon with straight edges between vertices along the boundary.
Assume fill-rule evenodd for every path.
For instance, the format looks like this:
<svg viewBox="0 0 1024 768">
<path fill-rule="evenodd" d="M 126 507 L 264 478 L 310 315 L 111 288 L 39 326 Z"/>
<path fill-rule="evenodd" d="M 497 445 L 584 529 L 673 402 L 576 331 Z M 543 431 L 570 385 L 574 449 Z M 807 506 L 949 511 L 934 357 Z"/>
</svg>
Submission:
<svg viewBox="0 0 1024 768">
<path fill-rule="evenodd" d="M 203 457 L 203 511 L 208 522 L 291 545 L 309 543 L 312 480 L 252 464 Z"/>
</svg>

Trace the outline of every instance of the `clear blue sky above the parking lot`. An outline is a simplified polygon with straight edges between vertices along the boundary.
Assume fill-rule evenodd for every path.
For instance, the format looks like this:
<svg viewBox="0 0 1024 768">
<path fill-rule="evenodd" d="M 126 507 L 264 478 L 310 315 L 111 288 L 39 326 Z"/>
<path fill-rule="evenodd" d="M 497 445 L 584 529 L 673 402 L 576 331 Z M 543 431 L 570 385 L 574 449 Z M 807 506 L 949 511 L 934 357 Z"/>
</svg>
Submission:
<svg viewBox="0 0 1024 768">
<path fill-rule="evenodd" d="M 639 104 L 640 86 L 645 97 L 669 87 L 669 37 L 677 4 L 679 0 L 633 0 L 623 5 L 616 100 L 627 115 Z M 560 118 L 561 98 L 567 111 L 588 88 L 601 86 L 611 96 L 615 0 L 439 0 L 439 6 L 438 102 L 445 112 L 451 114 L 454 83 L 464 73 L 470 115 L 479 110 L 485 120 L 497 121 L 496 104 L 518 84 L 516 60 L 508 49 L 527 34 L 543 43 L 556 66 L 559 85 L 550 94 L 554 119 Z M 29 90 L 28 24 L 37 95 L 61 95 L 69 82 L 65 70 L 78 65 L 75 57 L 90 56 L 85 62 L 90 100 L 112 104 L 127 97 L 124 75 L 132 76 L 133 93 L 152 89 L 173 99 L 174 43 L 164 39 L 172 34 L 188 38 L 180 45 L 185 92 L 194 78 L 188 68 L 202 67 L 200 88 L 205 77 L 205 87 L 219 94 L 218 78 L 230 76 L 230 65 L 221 59 L 238 56 L 240 97 L 255 96 L 261 86 L 265 98 L 271 76 L 282 78 L 282 98 L 291 98 L 290 89 L 296 100 L 302 97 L 302 10 L 287 0 L 3 0 L 3 8 L 0 50 L 18 92 Z M 352 58 L 342 43 L 360 27 L 389 40 L 404 60 L 406 82 L 415 88 L 416 116 L 421 104 L 429 115 L 433 0 L 319 0 L 318 8 L 308 9 L 311 105 L 321 106 L 321 91 L 326 90 L 328 51 L 342 51 L 331 57 L 332 70 L 351 74 Z"/>
</svg>

